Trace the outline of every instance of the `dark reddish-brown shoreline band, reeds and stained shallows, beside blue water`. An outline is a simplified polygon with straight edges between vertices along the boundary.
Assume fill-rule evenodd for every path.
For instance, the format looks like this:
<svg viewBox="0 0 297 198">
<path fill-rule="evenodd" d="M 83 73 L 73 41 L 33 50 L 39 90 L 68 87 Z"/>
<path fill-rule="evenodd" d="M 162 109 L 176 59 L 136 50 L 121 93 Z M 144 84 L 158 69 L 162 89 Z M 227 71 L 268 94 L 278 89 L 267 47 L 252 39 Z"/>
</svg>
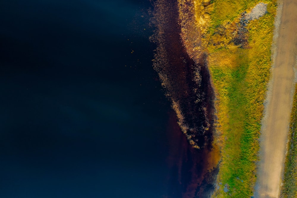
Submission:
<svg viewBox="0 0 297 198">
<path fill-rule="evenodd" d="M 188 14 L 187 20 L 192 20 L 193 12 Z M 182 19 L 177 0 L 158 0 L 154 6 L 152 23 L 156 30 L 151 41 L 157 44 L 154 69 L 176 113 L 171 125 L 174 126 L 176 122 L 179 125 L 179 128 L 175 125 L 170 131 L 170 153 L 175 157 L 169 157 L 169 161 L 172 174 L 177 174 L 172 186 L 180 188 L 180 195 L 171 196 L 209 197 L 214 190 L 221 155 L 214 144 L 215 95 L 207 55 L 203 51 L 189 53 L 190 47 L 200 43 L 195 41 L 189 42 L 188 47 L 185 45 L 184 39 L 190 38 L 190 35 L 182 38 Z M 176 156 L 179 159 L 177 161 L 174 160 Z"/>
</svg>

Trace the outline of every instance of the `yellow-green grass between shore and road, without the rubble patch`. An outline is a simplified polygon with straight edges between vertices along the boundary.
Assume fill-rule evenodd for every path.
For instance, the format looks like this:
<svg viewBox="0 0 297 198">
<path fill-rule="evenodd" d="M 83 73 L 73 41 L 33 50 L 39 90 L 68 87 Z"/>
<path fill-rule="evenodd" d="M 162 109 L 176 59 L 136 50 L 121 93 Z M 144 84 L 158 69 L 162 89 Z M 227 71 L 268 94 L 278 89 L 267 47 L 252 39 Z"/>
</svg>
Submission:
<svg viewBox="0 0 297 198">
<path fill-rule="evenodd" d="M 238 20 L 240 14 L 259 1 L 214 0 L 210 39 L 215 27 Z M 256 181 L 258 138 L 266 85 L 271 67 L 271 43 L 276 1 L 268 3 L 268 13 L 249 23 L 249 47 L 229 44 L 209 51 L 209 69 L 217 93 L 219 145 L 222 162 L 214 197 L 250 197 Z M 224 39 L 219 37 L 219 39 Z M 223 191 L 228 184 L 229 191 Z"/>
</svg>

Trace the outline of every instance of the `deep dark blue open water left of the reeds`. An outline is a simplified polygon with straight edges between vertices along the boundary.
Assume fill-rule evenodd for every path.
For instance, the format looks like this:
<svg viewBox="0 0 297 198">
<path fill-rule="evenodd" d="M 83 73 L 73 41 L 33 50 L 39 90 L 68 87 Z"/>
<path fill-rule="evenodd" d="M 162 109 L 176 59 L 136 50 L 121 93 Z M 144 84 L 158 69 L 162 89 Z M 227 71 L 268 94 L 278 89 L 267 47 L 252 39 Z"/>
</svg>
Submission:
<svg viewBox="0 0 297 198">
<path fill-rule="evenodd" d="M 150 6 L 0 1 L 1 198 L 181 197 Z"/>
</svg>

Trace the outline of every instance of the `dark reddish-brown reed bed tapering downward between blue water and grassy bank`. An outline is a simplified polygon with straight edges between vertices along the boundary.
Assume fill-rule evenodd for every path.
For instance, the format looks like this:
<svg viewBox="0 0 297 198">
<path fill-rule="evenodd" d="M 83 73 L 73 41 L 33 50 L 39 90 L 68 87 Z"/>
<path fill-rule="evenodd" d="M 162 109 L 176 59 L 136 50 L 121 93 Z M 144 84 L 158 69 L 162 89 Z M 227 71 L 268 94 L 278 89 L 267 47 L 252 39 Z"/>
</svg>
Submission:
<svg viewBox="0 0 297 198">
<path fill-rule="evenodd" d="M 195 60 L 181 40 L 177 1 L 157 1 L 153 23 L 157 43 L 154 69 L 166 96 L 172 101 L 178 123 L 195 148 L 212 147 L 214 131 L 214 90 L 207 67 L 207 56 Z"/>
</svg>

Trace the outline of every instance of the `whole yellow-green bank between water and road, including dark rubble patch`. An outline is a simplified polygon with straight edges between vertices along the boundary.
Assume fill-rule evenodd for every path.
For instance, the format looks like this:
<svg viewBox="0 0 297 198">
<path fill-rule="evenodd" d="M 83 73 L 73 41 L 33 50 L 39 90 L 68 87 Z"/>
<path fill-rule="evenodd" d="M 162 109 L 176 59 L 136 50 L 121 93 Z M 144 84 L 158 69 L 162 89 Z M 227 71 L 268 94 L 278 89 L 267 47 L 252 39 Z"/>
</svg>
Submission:
<svg viewBox="0 0 297 198">
<path fill-rule="evenodd" d="M 191 1 L 182 2 L 191 4 Z M 186 47 L 194 47 L 187 50 L 194 60 L 196 54 L 199 56 L 203 51 L 208 54 L 208 67 L 217 95 L 218 144 L 223 158 L 213 197 L 250 197 L 256 181 L 255 163 L 270 77 L 277 2 L 262 2 L 267 11 L 255 20 L 250 20 L 250 13 L 259 1 L 192 2 L 196 29 L 202 35 L 198 40 L 195 28 L 184 23 L 186 33 L 182 38 Z"/>
</svg>

